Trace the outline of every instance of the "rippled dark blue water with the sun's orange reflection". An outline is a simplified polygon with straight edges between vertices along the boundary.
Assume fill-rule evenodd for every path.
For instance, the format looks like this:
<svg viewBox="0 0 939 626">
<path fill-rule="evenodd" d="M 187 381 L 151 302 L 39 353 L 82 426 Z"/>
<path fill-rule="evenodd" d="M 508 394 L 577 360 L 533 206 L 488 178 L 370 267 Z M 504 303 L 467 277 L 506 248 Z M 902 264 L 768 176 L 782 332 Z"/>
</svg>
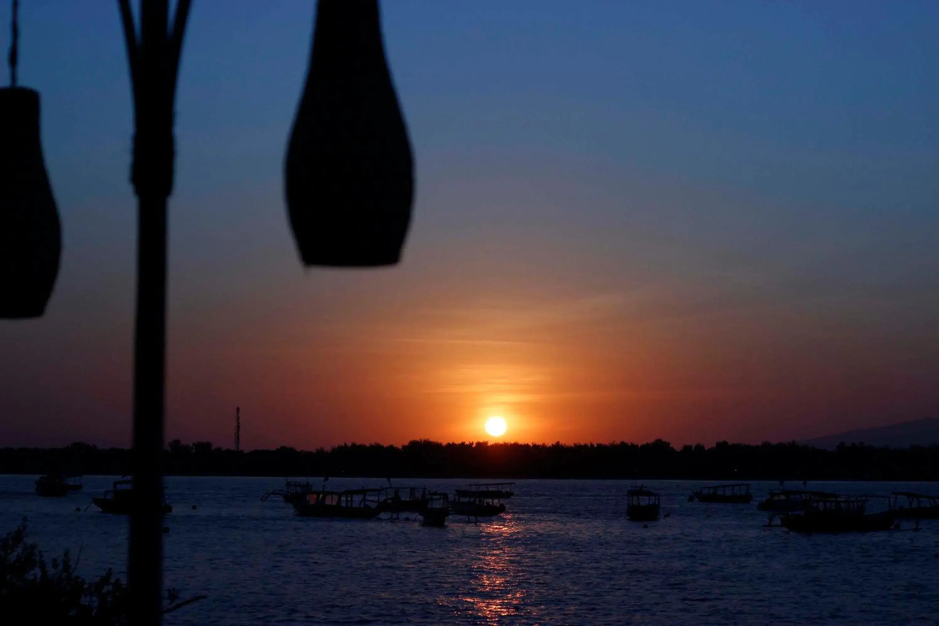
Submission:
<svg viewBox="0 0 939 626">
<path fill-rule="evenodd" d="M 47 554 L 82 549 L 81 572 L 125 566 L 127 519 L 0 476 L 0 530 L 29 519 Z M 380 486 L 334 480 L 331 488 Z M 453 491 L 465 481 L 413 481 Z M 919 531 L 802 536 L 763 527 L 751 505 L 687 502 L 700 483 L 648 483 L 668 518 L 625 519 L 620 481 L 518 481 L 508 511 L 479 524 L 300 518 L 259 499 L 283 481 L 169 478 L 166 587 L 207 594 L 166 624 L 939 623 L 939 521 Z M 754 483 L 764 496 L 771 483 Z M 939 492 L 936 484 L 815 489 Z M 192 505 L 197 508 L 192 509 Z M 81 507 L 83 511 L 75 511 Z M 909 526 L 909 525 L 907 525 Z"/>
</svg>

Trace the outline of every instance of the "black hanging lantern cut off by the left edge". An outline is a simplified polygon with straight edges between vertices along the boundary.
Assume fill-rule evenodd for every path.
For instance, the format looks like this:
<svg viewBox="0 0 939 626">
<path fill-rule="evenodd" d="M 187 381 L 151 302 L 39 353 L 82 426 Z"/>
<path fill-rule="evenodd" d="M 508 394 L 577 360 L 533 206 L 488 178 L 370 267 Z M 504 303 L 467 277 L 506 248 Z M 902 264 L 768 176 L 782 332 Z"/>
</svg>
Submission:
<svg viewBox="0 0 939 626">
<path fill-rule="evenodd" d="M 0 88 L 0 317 L 39 317 L 62 249 L 39 143 L 39 94 Z"/>
</svg>

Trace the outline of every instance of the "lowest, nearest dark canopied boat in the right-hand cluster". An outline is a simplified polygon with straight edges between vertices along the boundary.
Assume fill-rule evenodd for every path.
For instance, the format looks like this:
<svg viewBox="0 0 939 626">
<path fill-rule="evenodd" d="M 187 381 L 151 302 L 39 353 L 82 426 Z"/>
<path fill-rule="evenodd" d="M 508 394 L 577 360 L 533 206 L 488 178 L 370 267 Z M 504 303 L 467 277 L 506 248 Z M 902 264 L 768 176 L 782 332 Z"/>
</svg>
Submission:
<svg viewBox="0 0 939 626">
<path fill-rule="evenodd" d="M 867 504 L 863 496 L 811 497 L 804 511 L 783 515 L 780 522 L 793 532 L 872 532 L 893 527 L 895 511 L 868 513 Z"/>
</svg>

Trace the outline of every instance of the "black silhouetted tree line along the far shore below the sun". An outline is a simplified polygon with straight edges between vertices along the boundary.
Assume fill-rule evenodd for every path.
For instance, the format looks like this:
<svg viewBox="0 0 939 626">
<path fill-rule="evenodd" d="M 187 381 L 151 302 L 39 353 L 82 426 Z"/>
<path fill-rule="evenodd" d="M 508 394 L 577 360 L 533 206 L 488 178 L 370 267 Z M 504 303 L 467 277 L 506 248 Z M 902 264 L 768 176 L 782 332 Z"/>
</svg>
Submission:
<svg viewBox="0 0 939 626">
<path fill-rule="evenodd" d="M 343 444 L 330 450 L 240 451 L 171 441 L 171 476 L 331 476 L 373 478 L 580 478 L 707 480 L 939 481 L 939 446 L 908 449 L 840 445 L 821 450 L 796 443 L 758 446 L 718 442 L 713 448 L 669 442 L 610 444 L 447 443 L 426 439 L 402 447 Z M 0 449 L 0 473 L 50 471 L 123 475 L 131 450 L 85 443 L 67 448 Z"/>
</svg>

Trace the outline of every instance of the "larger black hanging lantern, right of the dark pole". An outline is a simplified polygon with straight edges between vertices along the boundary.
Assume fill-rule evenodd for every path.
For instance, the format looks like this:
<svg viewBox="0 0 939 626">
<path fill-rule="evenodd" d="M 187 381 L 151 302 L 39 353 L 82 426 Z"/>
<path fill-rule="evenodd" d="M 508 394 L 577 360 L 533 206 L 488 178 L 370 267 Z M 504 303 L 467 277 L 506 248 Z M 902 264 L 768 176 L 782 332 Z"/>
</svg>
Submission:
<svg viewBox="0 0 939 626">
<path fill-rule="evenodd" d="M 385 61 L 377 0 L 319 0 L 310 68 L 287 146 L 285 195 L 304 265 L 400 260 L 413 158 Z"/>
</svg>

